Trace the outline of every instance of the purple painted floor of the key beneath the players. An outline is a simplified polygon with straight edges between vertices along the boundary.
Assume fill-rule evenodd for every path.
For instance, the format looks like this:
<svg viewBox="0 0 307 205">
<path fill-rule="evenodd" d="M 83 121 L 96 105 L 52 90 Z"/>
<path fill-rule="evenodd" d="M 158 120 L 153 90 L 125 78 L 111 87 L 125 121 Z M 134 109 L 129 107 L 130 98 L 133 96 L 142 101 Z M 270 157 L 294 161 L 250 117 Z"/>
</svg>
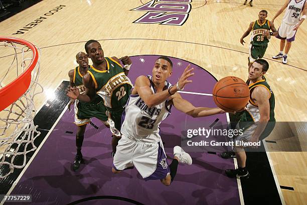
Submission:
<svg viewBox="0 0 307 205">
<path fill-rule="evenodd" d="M 155 55 L 131 57 L 129 78 L 132 83 L 138 75 L 151 74 L 157 58 Z M 174 66 L 169 81 L 175 84 L 189 62 L 171 59 Z M 190 64 L 196 74 L 185 91 L 212 93 L 215 78 Z M 216 107 L 212 96 L 193 93 L 182 93 L 182 96 L 196 107 Z M 240 204 L 237 180 L 224 173 L 225 169 L 234 168 L 233 160 L 224 160 L 218 154 L 189 152 L 193 164 L 179 165 L 176 178 L 168 187 L 160 181 L 143 181 L 136 169 L 112 174 L 111 133 L 97 119 L 92 122 L 99 128 L 88 125 L 85 132 L 82 147 L 85 164 L 73 172 L 71 165 L 76 154 L 73 116 L 73 110 L 65 111 L 11 194 L 32 194 L 31 204 L 67 204 L 94 196 L 112 196 L 113 199 L 97 197 L 78 204 L 133 204 L 125 199 L 143 204 Z M 227 122 L 225 114 L 195 119 L 172 108 L 172 114 L 161 124 L 169 162 L 173 158 L 173 147 L 181 145 L 183 126 L 208 124 L 217 118 L 224 124 Z"/>
</svg>

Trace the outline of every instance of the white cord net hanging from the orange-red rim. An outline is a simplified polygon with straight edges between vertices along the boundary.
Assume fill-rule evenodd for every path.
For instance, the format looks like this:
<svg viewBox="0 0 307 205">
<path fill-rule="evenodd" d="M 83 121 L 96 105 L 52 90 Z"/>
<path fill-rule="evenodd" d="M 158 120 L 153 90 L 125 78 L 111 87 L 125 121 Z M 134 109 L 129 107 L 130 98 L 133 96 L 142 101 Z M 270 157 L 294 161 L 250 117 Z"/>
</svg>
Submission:
<svg viewBox="0 0 307 205">
<path fill-rule="evenodd" d="M 40 49 L 37 49 L 40 58 Z M 33 52 L 26 45 L 2 41 L 0 56 L 3 56 L 0 57 L 3 65 L 8 65 L 0 74 L 2 89 L 27 70 Z M 40 59 L 31 73 L 31 83 L 26 92 L 0 112 L 0 178 L 7 177 L 15 168 L 23 168 L 27 163 L 27 153 L 37 149 L 34 141 L 40 132 L 33 122 L 36 115 L 33 98 L 43 92 L 43 87 L 38 83 L 39 72 Z"/>
</svg>

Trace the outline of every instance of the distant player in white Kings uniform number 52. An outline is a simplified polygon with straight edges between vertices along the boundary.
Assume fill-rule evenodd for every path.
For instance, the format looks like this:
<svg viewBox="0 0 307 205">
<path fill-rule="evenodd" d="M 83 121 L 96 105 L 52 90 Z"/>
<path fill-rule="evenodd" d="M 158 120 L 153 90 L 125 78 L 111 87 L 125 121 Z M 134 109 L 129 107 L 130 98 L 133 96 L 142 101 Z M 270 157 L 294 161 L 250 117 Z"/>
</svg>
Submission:
<svg viewBox="0 0 307 205">
<path fill-rule="evenodd" d="M 287 55 L 291 48 L 291 43 L 295 39 L 295 34 L 299 26 L 306 19 L 307 3 L 306 0 L 286 0 L 285 4 L 278 10 L 272 22 L 286 9 L 282 23 L 273 36 L 280 40 L 280 51 L 273 59 L 282 58 L 282 63 L 287 63 Z M 267 34 L 268 35 L 268 34 Z M 286 42 L 287 40 L 287 42 Z M 285 51 L 283 54 L 283 49 Z"/>
</svg>

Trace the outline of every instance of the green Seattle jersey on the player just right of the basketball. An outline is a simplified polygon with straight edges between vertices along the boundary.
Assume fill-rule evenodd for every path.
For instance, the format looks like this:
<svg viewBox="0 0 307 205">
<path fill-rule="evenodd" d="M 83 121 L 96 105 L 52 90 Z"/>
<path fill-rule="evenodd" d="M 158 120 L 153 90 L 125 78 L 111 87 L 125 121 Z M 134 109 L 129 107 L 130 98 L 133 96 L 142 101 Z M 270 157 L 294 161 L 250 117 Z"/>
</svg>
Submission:
<svg viewBox="0 0 307 205">
<path fill-rule="evenodd" d="M 247 81 L 247 84 L 248 83 L 249 83 L 249 81 Z M 270 97 L 269 97 L 270 119 L 269 119 L 269 122 L 275 122 L 275 117 L 274 117 L 275 97 L 274 97 L 274 93 L 271 90 L 268 83 L 266 82 L 266 79 L 263 78 L 262 80 L 258 80 L 256 82 L 248 85 L 250 97 L 249 97 L 248 104 L 245 108 L 245 111 L 244 111 L 244 113 L 241 116 L 240 121 L 239 121 L 240 128 L 247 128 L 247 127 L 251 126 L 252 124 L 254 124 L 254 123 L 256 123 L 260 120 L 259 108 L 251 98 L 251 94 L 252 94 L 253 90 L 255 89 L 255 87 L 257 87 L 257 86 L 263 86 L 269 91 L 269 93 L 270 93 Z"/>
</svg>

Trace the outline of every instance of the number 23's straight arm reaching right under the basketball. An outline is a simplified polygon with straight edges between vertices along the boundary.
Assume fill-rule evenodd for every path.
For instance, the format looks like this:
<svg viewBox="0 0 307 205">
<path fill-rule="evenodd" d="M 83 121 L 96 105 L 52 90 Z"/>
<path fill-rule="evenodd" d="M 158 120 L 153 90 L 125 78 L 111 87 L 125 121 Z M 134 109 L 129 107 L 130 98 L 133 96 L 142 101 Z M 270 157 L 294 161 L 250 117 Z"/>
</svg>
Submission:
<svg viewBox="0 0 307 205">
<path fill-rule="evenodd" d="M 220 108 L 205 108 L 205 107 L 196 108 L 191 104 L 191 102 L 182 98 L 179 93 L 172 95 L 172 100 L 170 100 L 170 104 L 173 104 L 177 110 L 189 116 L 192 116 L 193 118 L 200 118 L 200 117 L 225 113 L 225 111 L 223 111 Z"/>
</svg>

